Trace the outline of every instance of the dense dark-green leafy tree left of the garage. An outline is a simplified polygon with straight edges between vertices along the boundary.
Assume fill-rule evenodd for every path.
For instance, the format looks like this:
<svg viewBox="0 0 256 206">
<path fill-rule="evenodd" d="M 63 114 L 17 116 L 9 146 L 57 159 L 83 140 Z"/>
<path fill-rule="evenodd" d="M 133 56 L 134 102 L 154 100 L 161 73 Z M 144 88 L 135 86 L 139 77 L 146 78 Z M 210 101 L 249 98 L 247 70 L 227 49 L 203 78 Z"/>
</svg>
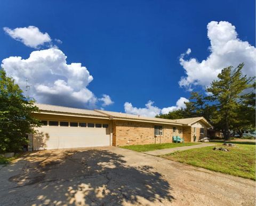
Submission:
<svg viewBox="0 0 256 206">
<path fill-rule="evenodd" d="M 38 108 L 28 100 L 14 79 L 0 69 L 0 153 L 18 152 L 28 143 L 27 134 L 41 126 L 31 114 Z"/>
</svg>

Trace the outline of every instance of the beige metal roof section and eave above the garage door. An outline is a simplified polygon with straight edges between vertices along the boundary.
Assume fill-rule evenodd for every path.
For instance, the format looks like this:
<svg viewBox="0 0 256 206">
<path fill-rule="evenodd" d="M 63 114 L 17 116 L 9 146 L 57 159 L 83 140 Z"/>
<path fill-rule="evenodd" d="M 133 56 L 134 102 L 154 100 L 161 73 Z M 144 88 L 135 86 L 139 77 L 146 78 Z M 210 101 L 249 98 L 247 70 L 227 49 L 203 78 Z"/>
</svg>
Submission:
<svg viewBox="0 0 256 206">
<path fill-rule="evenodd" d="M 94 110 L 68 108 L 66 106 L 55 106 L 51 104 L 39 104 L 39 103 L 34 103 L 34 105 L 39 108 L 40 113 L 109 119 L 109 117 L 106 114 L 102 114 Z"/>
</svg>

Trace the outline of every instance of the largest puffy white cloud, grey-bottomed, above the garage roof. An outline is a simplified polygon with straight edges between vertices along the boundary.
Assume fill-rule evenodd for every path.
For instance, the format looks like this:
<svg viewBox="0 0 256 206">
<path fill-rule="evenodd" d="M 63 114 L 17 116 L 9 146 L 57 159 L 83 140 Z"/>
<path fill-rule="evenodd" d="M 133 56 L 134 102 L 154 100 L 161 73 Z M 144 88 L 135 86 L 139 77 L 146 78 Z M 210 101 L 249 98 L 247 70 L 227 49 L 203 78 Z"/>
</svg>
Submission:
<svg viewBox="0 0 256 206">
<path fill-rule="evenodd" d="M 96 108 L 98 101 L 113 103 L 108 95 L 98 99 L 87 88 L 93 80 L 90 72 L 81 63 L 68 64 L 66 59 L 61 50 L 49 48 L 32 52 L 28 59 L 10 56 L 1 66 L 23 91 L 29 85 L 29 96 L 40 103 L 90 109 Z"/>
</svg>

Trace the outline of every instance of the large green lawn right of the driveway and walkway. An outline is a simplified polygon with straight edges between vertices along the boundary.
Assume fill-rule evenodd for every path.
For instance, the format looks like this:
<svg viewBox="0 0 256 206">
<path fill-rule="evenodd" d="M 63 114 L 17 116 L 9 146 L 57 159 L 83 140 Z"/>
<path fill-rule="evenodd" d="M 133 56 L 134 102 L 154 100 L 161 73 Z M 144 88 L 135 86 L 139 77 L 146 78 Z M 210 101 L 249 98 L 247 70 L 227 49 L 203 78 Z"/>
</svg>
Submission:
<svg viewBox="0 0 256 206">
<path fill-rule="evenodd" d="M 223 142 L 214 141 L 214 143 L 220 146 Z M 236 144 L 236 147 L 227 147 L 229 152 L 215 151 L 213 150 L 214 146 L 209 146 L 166 154 L 162 155 L 162 157 L 196 167 L 255 180 L 255 143 L 230 143 Z"/>
</svg>

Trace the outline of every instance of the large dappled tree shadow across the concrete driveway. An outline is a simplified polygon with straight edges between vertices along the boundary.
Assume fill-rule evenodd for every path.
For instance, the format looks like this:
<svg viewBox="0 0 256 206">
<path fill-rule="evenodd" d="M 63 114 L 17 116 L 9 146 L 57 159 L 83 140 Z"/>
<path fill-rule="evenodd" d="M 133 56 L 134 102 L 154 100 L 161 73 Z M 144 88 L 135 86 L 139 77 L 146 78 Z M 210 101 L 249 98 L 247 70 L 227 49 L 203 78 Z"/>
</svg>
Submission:
<svg viewBox="0 0 256 206">
<path fill-rule="evenodd" d="M 41 151 L 25 161 L 21 173 L 9 178 L 17 183 L 10 188 L 16 203 L 159 205 L 174 199 L 170 184 L 153 167 L 130 166 L 123 155 L 108 150 Z"/>
</svg>

